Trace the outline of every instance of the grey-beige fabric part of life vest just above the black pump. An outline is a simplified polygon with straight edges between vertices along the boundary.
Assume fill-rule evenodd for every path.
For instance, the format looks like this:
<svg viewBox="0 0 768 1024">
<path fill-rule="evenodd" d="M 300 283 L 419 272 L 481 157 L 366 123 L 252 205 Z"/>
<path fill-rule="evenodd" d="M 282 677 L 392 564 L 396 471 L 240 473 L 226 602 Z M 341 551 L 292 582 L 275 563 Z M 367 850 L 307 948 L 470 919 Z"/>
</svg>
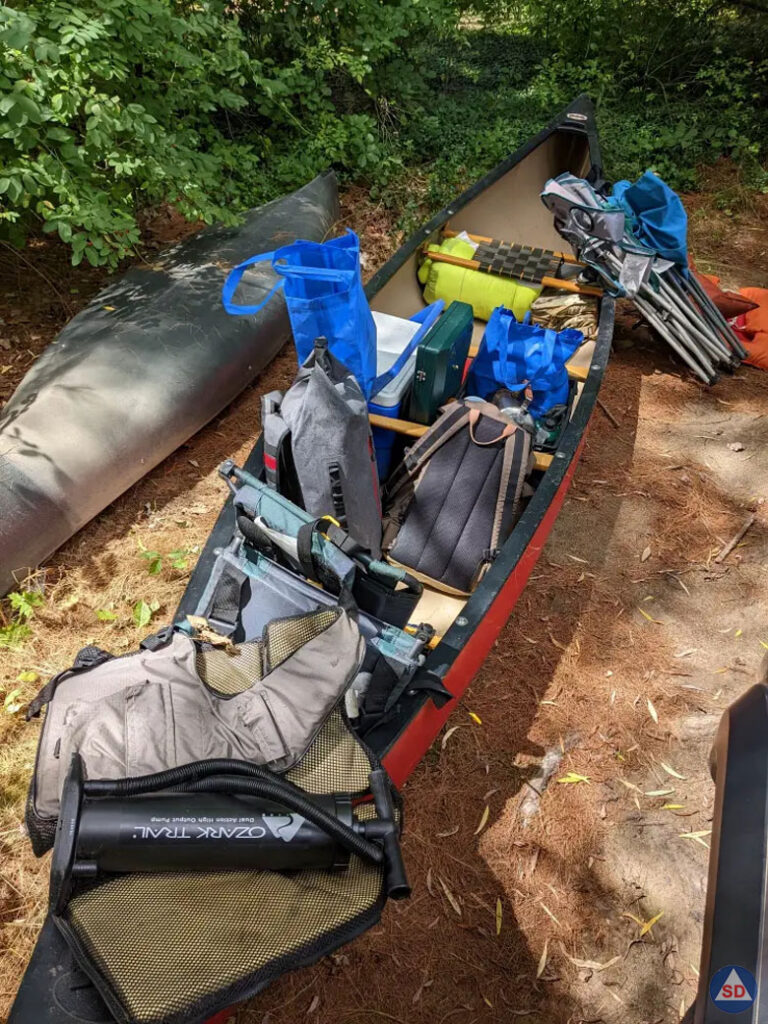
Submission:
<svg viewBox="0 0 768 1024">
<path fill-rule="evenodd" d="M 343 608 L 275 618 L 263 636 L 212 645 L 184 632 L 111 657 L 86 648 L 32 701 L 45 707 L 27 803 L 33 849 L 53 845 L 75 753 L 87 778 L 130 778 L 212 758 L 285 772 L 304 755 L 362 665 L 365 641 Z"/>
</svg>

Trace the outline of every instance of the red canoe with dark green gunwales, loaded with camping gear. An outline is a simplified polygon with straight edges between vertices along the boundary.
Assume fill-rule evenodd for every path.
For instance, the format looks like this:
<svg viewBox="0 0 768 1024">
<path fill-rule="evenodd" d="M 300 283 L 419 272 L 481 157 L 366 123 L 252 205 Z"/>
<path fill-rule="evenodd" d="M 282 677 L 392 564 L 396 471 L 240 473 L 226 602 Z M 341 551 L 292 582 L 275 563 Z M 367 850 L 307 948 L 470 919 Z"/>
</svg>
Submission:
<svg viewBox="0 0 768 1024">
<path fill-rule="evenodd" d="M 485 177 L 458 197 L 418 230 L 367 286 L 374 311 L 413 316 L 425 305 L 417 280 L 425 243 L 441 232 L 463 230 L 492 239 L 507 239 L 557 250 L 561 240 L 551 214 L 540 202 L 548 178 L 564 171 L 601 179 L 600 153 L 590 100 L 583 96 L 548 127 L 510 155 Z M 613 301 L 599 300 L 596 337 L 586 342 L 569 364 L 575 398 L 567 424 L 551 459 L 535 473 L 536 489 L 509 540 L 469 597 L 457 597 L 425 588 L 415 622 L 429 622 L 436 639 L 421 669 L 397 707 L 397 713 L 366 733 L 366 743 L 382 759 L 395 785 L 401 785 L 424 756 L 482 664 L 492 644 L 514 609 L 539 558 L 570 485 L 585 432 L 594 411 L 607 364 L 613 333 Z M 476 325 L 479 340 L 483 325 Z M 245 468 L 262 472 L 259 439 Z M 236 536 L 231 499 L 227 500 L 206 544 L 175 615 L 176 623 L 198 610 L 218 553 Z M 451 699 L 437 706 L 418 686 L 419 675 L 439 680 Z M 378 918 L 376 919 L 378 920 Z M 359 934 L 370 923 L 348 930 L 337 944 Z M 313 946 L 301 947 L 300 964 L 318 955 Z M 296 966 L 296 964 L 294 965 Z M 54 979 L 51 991 L 50 978 Z M 262 982 L 263 984 L 263 982 Z M 254 994 L 258 986 L 241 989 L 238 997 Z M 216 1006 L 218 1010 L 222 1002 Z M 209 1013 L 211 1010 L 209 1009 Z M 109 1021 L 110 1010 L 73 961 L 69 947 L 49 918 L 19 990 L 11 1024 Z M 121 1018 L 124 1019 L 124 1018 Z M 219 1016 L 216 1020 L 223 1020 Z"/>
</svg>

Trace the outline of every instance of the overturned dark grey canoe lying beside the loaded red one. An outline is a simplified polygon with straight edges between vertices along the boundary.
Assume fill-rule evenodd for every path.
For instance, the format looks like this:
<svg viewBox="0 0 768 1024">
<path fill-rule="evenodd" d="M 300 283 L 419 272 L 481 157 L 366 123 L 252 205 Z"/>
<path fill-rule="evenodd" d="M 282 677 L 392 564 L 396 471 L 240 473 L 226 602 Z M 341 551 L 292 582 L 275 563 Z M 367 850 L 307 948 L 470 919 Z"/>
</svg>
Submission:
<svg viewBox="0 0 768 1024">
<path fill-rule="evenodd" d="M 133 267 L 67 325 L 0 413 L 0 595 L 264 370 L 291 335 L 285 302 L 228 316 L 226 274 L 254 252 L 322 241 L 338 215 L 328 173 Z M 268 264 L 249 271 L 245 301 L 273 283 Z"/>
</svg>

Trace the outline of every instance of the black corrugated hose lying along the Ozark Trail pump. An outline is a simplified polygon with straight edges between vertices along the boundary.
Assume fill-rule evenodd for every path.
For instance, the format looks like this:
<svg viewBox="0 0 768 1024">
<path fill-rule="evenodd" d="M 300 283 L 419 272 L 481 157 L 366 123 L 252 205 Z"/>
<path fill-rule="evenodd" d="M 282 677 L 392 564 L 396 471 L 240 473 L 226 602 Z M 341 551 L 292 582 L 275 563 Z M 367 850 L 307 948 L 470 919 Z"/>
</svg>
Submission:
<svg viewBox="0 0 768 1024">
<path fill-rule="evenodd" d="M 222 778 L 222 775 L 229 777 Z M 245 777 L 232 778 L 232 775 Z M 358 836 L 353 828 L 324 811 L 304 790 L 288 779 L 275 776 L 267 768 L 245 761 L 217 758 L 136 778 L 92 779 L 83 785 L 87 797 L 134 797 L 170 788 L 186 793 L 239 793 L 273 800 L 303 815 L 350 853 L 374 864 L 384 861 L 384 851 L 378 844 Z"/>
</svg>

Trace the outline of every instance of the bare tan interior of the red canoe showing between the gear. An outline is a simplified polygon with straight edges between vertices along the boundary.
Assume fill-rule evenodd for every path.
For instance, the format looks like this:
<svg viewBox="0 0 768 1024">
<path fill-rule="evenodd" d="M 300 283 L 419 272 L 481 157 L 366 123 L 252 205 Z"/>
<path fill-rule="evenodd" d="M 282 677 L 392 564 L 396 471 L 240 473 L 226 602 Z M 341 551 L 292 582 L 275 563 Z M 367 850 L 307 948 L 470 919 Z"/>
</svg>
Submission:
<svg viewBox="0 0 768 1024">
<path fill-rule="evenodd" d="M 456 231 L 561 250 L 563 240 L 555 230 L 552 214 L 539 196 L 548 178 L 564 171 L 584 176 L 589 167 L 589 147 L 585 136 L 567 131 L 556 132 L 462 210 L 452 211 L 450 225 Z M 439 241 L 439 230 L 425 232 L 424 241 Z M 396 316 L 413 316 L 422 308 L 425 303 L 417 278 L 418 266 L 417 250 L 374 297 L 372 308 Z M 479 344 L 484 329 L 484 323 L 475 322 L 473 346 Z M 586 376 L 593 350 L 594 342 L 585 342 L 578 349 L 568 362 L 568 369 L 574 371 L 571 376 Z M 581 390 L 582 385 L 578 384 L 578 395 Z M 429 623 L 435 629 L 437 639 L 461 614 L 466 601 L 466 597 L 455 597 L 425 586 L 424 595 L 416 608 L 415 622 Z"/>
</svg>

